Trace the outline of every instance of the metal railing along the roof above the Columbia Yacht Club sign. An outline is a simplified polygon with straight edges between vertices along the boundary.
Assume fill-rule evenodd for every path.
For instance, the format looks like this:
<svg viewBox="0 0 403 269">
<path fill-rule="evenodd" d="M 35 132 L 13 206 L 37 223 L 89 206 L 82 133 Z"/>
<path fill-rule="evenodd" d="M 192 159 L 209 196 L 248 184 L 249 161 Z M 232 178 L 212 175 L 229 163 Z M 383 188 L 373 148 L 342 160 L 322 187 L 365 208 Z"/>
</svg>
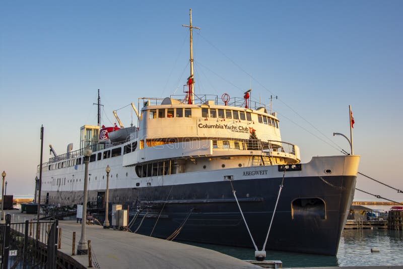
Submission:
<svg viewBox="0 0 403 269">
<path fill-rule="evenodd" d="M 186 101 L 187 95 L 171 95 L 170 97 L 173 99 L 179 100 L 183 104 L 187 103 L 187 101 Z M 225 105 L 225 102 L 222 101 L 222 99 L 219 98 L 218 95 L 211 95 L 211 94 L 194 95 L 193 104 L 205 105 L 205 104 L 208 104 L 208 101 L 214 101 L 215 105 Z M 227 105 L 245 108 L 245 99 L 241 98 L 241 97 L 229 98 L 229 100 L 227 101 Z M 256 110 L 260 107 L 267 107 L 267 105 L 262 104 L 260 102 L 252 101 L 252 100 L 248 101 L 249 109 Z"/>
</svg>

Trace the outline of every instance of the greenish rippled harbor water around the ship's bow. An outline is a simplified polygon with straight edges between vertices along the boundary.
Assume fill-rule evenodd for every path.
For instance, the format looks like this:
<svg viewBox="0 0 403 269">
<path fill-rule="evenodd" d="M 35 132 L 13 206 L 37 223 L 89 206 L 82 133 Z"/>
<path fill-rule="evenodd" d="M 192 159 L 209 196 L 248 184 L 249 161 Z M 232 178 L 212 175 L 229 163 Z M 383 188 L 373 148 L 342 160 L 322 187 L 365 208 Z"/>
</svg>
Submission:
<svg viewBox="0 0 403 269">
<path fill-rule="evenodd" d="M 213 249 L 239 259 L 254 259 L 254 250 L 201 243 L 188 243 Z M 376 247 L 380 252 L 371 253 Z M 281 260 L 283 267 L 363 266 L 403 264 L 403 231 L 386 229 L 344 230 L 337 256 L 266 251 L 267 260 Z"/>
</svg>

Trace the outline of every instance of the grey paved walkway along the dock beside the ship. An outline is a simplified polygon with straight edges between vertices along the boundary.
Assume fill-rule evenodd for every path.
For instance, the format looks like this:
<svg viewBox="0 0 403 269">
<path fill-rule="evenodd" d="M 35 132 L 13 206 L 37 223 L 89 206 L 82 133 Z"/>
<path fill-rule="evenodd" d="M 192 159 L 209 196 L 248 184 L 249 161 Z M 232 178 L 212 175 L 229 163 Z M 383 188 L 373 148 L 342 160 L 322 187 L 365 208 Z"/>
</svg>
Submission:
<svg viewBox="0 0 403 269">
<path fill-rule="evenodd" d="M 10 211 L 14 220 L 22 222 L 33 216 Z M 73 232 L 76 232 L 76 252 L 81 236 L 81 224 L 76 221 L 59 221 L 61 248 L 72 254 Z M 93 267 L 98 262 L 104 268 L 261 268 L 220 252 L 171 242 L 130 232 L 103 229 L 99 225 L 86 225 L 86 239 L 91 240 Z M 88 266 L 88 255 L 72 256 Z"/>
</svg>

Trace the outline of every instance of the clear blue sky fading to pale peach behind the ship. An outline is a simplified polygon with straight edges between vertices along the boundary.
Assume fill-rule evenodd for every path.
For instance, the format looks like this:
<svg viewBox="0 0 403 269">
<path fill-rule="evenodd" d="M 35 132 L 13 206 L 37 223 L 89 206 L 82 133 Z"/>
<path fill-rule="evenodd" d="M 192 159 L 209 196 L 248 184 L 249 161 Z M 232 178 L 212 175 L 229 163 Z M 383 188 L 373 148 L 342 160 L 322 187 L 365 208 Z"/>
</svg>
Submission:
<svg viewBox="0 0 403 269">
<path fill-rule="evenodd" d="M 48 144 L 58 154 L 80 127 L 102 123 L 139 97 L 182 94 L 189 76 L 189 9 L 195 91 L 270 103 L 282 140 L 302 163 L 339 155 L 355 118 L 359 171 L 403 189 L 401 1 L 0 1 L 0 170 L 7 193 L 33 193 Z M 130 107 L 118 110 L 137 124 Z M 358 176 L 357 187 L 403 201 L 403 193 Z M 356 192 L 356 200 L 374 200 Z"/>
</svg>

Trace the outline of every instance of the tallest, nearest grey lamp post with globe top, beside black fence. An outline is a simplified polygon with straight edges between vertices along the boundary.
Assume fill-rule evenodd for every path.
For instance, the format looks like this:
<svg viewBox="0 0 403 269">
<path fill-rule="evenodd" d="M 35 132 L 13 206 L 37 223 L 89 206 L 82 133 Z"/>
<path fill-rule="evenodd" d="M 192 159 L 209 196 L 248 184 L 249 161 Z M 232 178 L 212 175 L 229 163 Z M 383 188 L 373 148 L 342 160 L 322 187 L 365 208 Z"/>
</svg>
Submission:
<svg viewBox="0 0 403 269">
<path fill-rule="evenodd" d="M 88 254 L 88 244 L 87 239 L 85 238 L 85 224 L 87 222 L 87 185 L 88 185 L 88 163 L 90 162 L 90 157 L 92 154 L 92 150 L 90 147 L 86 147 L 84 149 L 84 163 L 85 163 L 85 175 L 84 175 L 84 201 L 83 201 L 83 216 L 81 221 L 81 238 L 79 244 L 77 246 L 77 255 L 86 255 Z"/>
</svg>

